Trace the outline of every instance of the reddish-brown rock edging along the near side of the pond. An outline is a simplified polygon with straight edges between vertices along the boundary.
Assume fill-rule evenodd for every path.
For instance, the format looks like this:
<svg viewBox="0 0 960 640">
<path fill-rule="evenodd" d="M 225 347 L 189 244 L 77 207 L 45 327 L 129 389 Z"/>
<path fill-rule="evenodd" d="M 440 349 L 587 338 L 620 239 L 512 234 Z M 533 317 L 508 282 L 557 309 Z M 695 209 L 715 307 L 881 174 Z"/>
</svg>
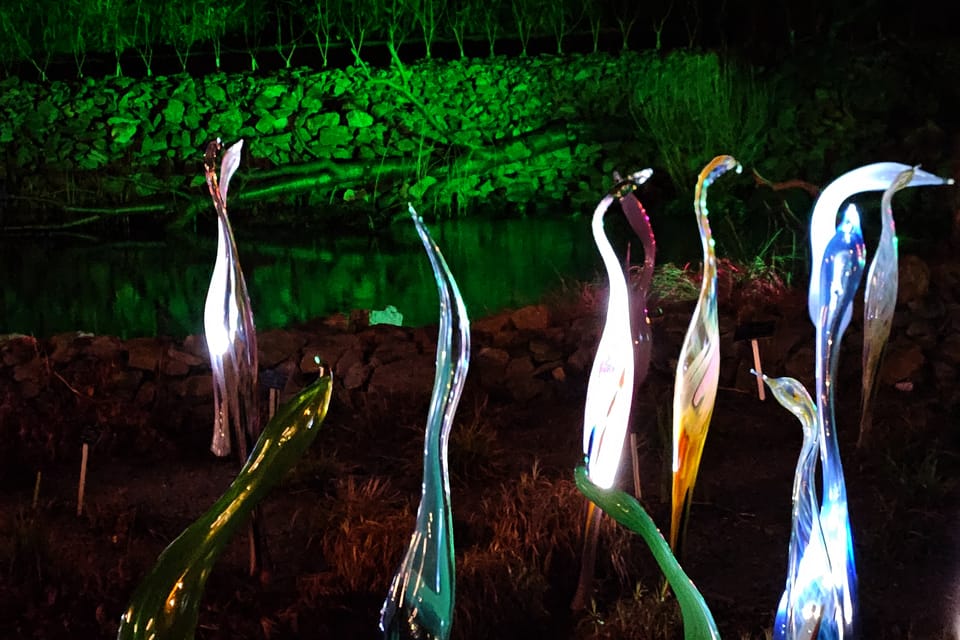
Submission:
<svg viewBox="0 0 960 640">
<path fill-rule="evenodd" d="M 890 411 L 905 412 L 914 428 L 939 433 L 952 428 L 946 416 L 955 413 L 960 399 L 960 267 L 946 264 L 931 270 L 917 258 L 904 257 L 899 302 L 879 376 L 878 402 L 884 409 L 876 415 L 889 419 Z M 509 402 L 543 394 L 582 397 L 602 324 L 602 310 L 588 307 L 537 305 L 474 320 L 467 384 Z M 658 413 L 658 405 L 669 404 L 693 302 L 661 301 L 652 308 L 662 314 L 654 318 L 651 373 L 635 409 L 647 420 Z M 319 356 L 333 367 L 336 403 L 354 409 L 372 401 L 426 403 L 433 385 L 436 328 L 367 326 L 365 318 L 355 312 L 350 318 L 334 316 L 301 328 L 260 333 L 262 371 L 286 381 L 281 398 L 308 382 L 314 356 Z M 804 292 L 793 291 L 758 307 L 733 291 L 721 304 L 718 407 L 723 393 L 756 393 L 749 372 L 750 345 L 734 340 L 738 323 L 756 318 L 775 322 L 774 334 L 760 341 L 765 373 L 793 376 L 813 388 L 813 331 Z M 862 340 L 862 323 L 855 314 L 843 341 L 838 389 L 858 401 Z M 0 468 L 8 471 L 77 455 L 81 435 L 90 427 L 102 449 L 121 453 L 157 443 L 174 446 L 182 438 L 203 440 L 211 412 L 210 368 L 202 337 L 0 337 Z M 941 414 L 942 425 L 915 424 L 918 416 Z M 850 429 L 855 431 L 855 424 Z"/>
</svg>

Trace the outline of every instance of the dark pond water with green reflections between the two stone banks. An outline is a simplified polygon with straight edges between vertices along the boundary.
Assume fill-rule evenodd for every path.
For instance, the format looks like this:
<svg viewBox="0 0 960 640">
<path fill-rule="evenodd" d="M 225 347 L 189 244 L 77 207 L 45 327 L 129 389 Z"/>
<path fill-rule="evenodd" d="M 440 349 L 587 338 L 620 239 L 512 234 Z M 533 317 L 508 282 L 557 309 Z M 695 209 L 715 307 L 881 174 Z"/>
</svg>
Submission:
<svg viewBox="0 0 960 640">
<path fill-rule="evenodd" d="M 618 235 L 620 223 L 608 219 L 611 235 Z M 537 302 L 565 282 L 601 273 L 586 216 L 430 228 L 472 317 Z M 201 333 L 216 251 L 213 233 L 204 235 L 122 243 L 0 239 L 0 333 Z M 311 231 L 283 241 L 238 234 L 237 243 L 260 329 L 387 305 L 403 314 L 405 325 L 437 322 L 436 286 L 412 223 L 375 240 Z"/>
</svg>

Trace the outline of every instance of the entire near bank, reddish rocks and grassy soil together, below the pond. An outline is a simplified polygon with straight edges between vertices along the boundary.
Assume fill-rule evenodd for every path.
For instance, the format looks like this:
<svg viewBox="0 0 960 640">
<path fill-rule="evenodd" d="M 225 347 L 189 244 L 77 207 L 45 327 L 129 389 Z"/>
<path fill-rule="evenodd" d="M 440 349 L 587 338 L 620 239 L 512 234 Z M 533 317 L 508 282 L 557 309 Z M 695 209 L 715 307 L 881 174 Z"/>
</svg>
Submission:
<svg viewBox="0 0 960 640">
<path fill-rule="evenodd" d="M 683 563 L 724 637 L 764 638 L 783 587 L 801 430 L 759 400 L 750 343 L 735 338 L 772 321 L 759 341 L 765 372 L 812 388 L 814 334 L 804 292 L 729 268 L 721 282 L 720 392 Z M 450 442 L 455 638 L 681 637 L 646 548 L 609 520 L 593 605 L 569 610 L 584 510 L 572 470 L 603 295 L 584 286 L 472 323 Z M 856 319 L 837 387 L 862 637 L 947 638 L 960 624 L 960 264 L 904 257 L 899 302 L 867 446 L 855 447 Z M 661 528 L 673 370 L 692 307 L 679 295 L 651 305 L 654 361 L 634 409 L 642 499 Z M 419 500 L 435 339 L 435 327 L 368 326 L 363 313 L 259 335 L 262 378 L 281 399 L 309 380 L 315 355 L 333 366 L 334 398 L 312 449 L 264 504 L 272 571 L 247 577 L 235 541 L 210 578 L 197 637 L 376 636 Z M 0 636 L 115 636 L 157 554 L 236 473 L 208 453 L 202 338 L 4 336 L 0 357 Z"/>
</svg>

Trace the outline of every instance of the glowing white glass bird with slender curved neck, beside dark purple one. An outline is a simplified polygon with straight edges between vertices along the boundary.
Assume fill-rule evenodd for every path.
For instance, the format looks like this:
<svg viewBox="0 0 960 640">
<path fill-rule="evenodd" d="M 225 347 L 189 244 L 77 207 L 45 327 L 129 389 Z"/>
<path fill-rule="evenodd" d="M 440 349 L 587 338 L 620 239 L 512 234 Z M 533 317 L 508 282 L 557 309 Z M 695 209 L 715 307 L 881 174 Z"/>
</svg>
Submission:
<svg viewBox="0 0 960 640">
<path fill-rule="evenodd" d="M 631 176 L 634 185 L 646 182 L 649 169 Z M 603 230 L 603 217 L 621 195 L 621 185 L 607 193 L 594 209 L 593 241 L 607 272 L 609 296 L 600 344 L 590 369 L 583 409 L 583 453 L 590 481 L 600 488 L 613 486 L 620 466 L 633 404 L 634 351 L 627 279 Z"/>
</svg>

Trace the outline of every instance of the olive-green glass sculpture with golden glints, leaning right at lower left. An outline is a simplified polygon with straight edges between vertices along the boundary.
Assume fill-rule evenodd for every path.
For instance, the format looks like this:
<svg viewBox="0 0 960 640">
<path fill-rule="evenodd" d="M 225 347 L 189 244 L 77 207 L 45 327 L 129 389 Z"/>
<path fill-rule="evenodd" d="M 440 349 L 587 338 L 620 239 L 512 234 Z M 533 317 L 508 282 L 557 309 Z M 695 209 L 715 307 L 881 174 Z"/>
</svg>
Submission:
<svg viewBox="0 0 960 640">
<path fill-rule="evenodd" d="M 120 618 L 121 640 L 193 638 L 204 586 L 217 558 L 258 502 L 296 464 L 330 405 L 329 371 L 267 424 L 227 492 L 164 549 Z"/>
</svg>

